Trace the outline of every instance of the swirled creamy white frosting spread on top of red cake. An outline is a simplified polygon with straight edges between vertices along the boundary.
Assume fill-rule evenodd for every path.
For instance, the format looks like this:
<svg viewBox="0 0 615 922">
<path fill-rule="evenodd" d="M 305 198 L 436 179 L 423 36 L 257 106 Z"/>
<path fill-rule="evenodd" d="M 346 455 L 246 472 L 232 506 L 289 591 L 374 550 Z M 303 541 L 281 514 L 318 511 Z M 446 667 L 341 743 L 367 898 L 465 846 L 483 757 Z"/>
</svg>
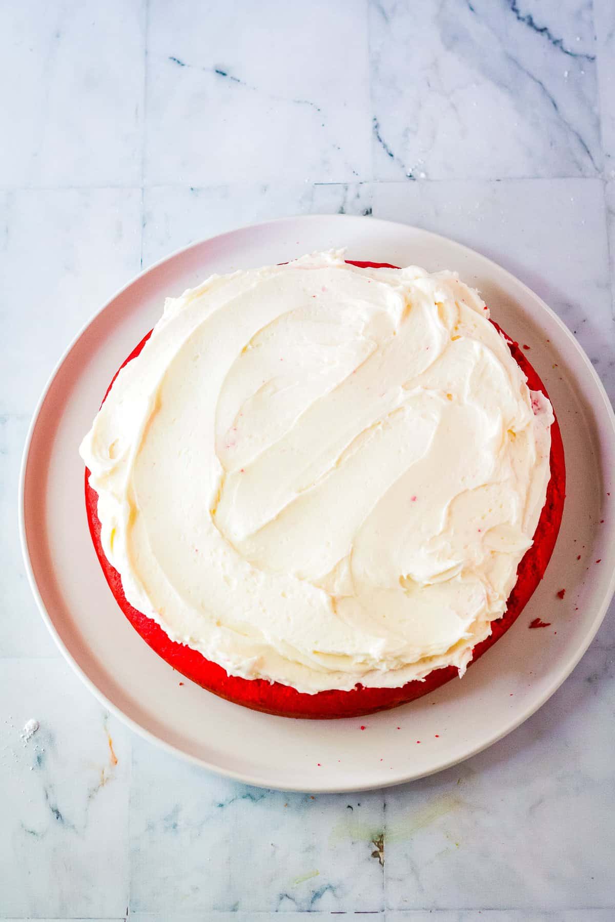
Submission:
<svg viewBox="0 0 615 922">
<path fill-rule="evenodd" d="M 460 672 L 550 477 L 533 394 L 451 272 L 342 252 L 168 300 L 81 445 L 136 609 L 299 691 Z"/>
</svg>

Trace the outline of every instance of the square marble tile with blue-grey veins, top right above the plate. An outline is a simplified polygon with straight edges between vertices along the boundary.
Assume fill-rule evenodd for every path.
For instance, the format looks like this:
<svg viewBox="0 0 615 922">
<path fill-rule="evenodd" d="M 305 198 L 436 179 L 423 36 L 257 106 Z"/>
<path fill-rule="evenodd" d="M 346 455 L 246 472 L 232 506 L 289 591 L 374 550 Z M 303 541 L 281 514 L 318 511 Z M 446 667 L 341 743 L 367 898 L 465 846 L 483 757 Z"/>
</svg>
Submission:
<svg viewBox="0 0 615 922">
<path fill-rule="evenodd" d="M 582 4 L 560 23 L 576 31 L 574 49 L 568 34 L 538 25 L 542 8 L 516 3 L 383 0 L 371 11 L 376 179 L 601 169 L 595 42 Z"/>
</svg>

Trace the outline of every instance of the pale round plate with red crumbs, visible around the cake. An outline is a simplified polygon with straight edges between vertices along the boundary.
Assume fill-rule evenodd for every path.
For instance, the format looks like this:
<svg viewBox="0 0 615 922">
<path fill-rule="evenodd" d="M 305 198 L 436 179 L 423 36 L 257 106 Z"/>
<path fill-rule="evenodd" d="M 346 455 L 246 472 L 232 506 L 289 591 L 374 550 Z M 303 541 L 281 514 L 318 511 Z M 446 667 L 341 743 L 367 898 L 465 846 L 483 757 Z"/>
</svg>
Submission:
<svg viewBox="0 0 615 922">
<path fill-rule="evenodd" d="M 112 374 L 159 318 L 165 296 L 212 272 L 339 246 L 348 247 L 350 259 L 453 268 L 479 288 L 493 317 L 531 346 L 529 358 L 562 426 L 568 497 L 545 579 L 513 628 L 462 681 L 362 720 L 289 720 L 222 701 L 188 680 L 180 686 L 183 677 L 136 634 L 91 545 L 77 446 Z M 21 476 L 21 540 L 34 595 L 60 649 L 130 727 L 253 785 L 361 790 L 466 759 L 526 720 L 569 675 L 614 589 L 615 516 L 605 512 L 614 462 L 615 419 L 596 372 L 550 308 L 508 272 L 458 243 L 402 224 L 347 216 L 282 219 L 170 256 L 120 291 L 77 336 L 32 420 Z M 563 600 L 556 595 L 561 588 Z M 527 630 L 538 615 L 551 627 Z"/>
</svg>

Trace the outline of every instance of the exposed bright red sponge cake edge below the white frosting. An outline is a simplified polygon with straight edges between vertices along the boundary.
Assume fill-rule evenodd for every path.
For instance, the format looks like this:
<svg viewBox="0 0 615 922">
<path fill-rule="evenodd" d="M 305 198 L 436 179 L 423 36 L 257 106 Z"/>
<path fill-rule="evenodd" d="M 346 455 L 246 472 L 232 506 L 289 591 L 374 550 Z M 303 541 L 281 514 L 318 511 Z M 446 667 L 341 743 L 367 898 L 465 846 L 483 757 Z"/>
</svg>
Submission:
<svg viewBox="0 0 615 922">
<path fill-rule="evenodd" d="M 390 266 L 388 263 L 353 262 L 355 266 L 373 266 L 375 268 Z M 492 322 L 493 323 L 493 322 Z M 494 326 L 499 330 L 497 324 Z M 151 331 L 144 337 L 121 368 L 132 361 L 145 346 Z M 505 335 L 505 334 L 504 334 Z M 517 362 L 522 372 L 526 375 L 527 386 L 533 391 L 542 391 L 545 396 L 547 390 L 534 371 L 526 354 L 519 349 L 518 344 L 506 337 L 514 361 Z M 119 370 L 118 372 L 119 373 Z M 113 381 L 117 377 L 113 377 Z M 112 383 L 107 389 L 105 399 L 111 390 Z M 104 403 L 104 400 L 103 400 Z M 565 490 L 565 467 L 562 445 L 562 435 L 557 420 L 551 426 L 551 451 L 550 451 L 550 482 L 547 488 L 547 499 L 538 520 L 538 527 L 534 534 L 534 543 L 527 550 L 525 557 L 517 569 L 517 580 L 513 592 L 508 598 L 508 608 L 499 621 L 491 623 L 491 636 L 474 647 L 472 663 L 479 659 L 486 650 L 495 644 L 509 629 L 513 622 L 525 608 L 527 601 L 538 586 L 550 561 L 555 540 L 562 522 L 562 511 Z M 101 567 L 112 594 L 124 615 L 131 622 L 135 630 L 143 637 L 149 646 L 162 656 L 173 668 L 181 672 L 186 678 L 197 682 L 207 691 L 212 691 L 221 698 L 253 708 L 256 711 L 265 711 L 285 717 L 309 717 L 326 719 L 335 717 L 352 717 L 372 714 L 387 708 L 396 707 L 420 698 L 430 691 L 434 691 L 445 682 L 455 678 L 457 669 L 449 666 L 434 669 L 425 680 L 414 680 L 396 689 L 372 689 L 357 685 L 352 691 L 319 691 L 316 694 L 305 694 L 296 691 L 288 685 L 279 682 L 268 682 L 262 679 L 241 679 L 227 675 L 226 671 L 212 663 L 202 654 L 184 644 L 177 644 L 167 634 L 141 611 L 137 611 L 124 596 L 124 588 L 120 574 L 112 567 L 102 550 L 101 522 L 98 517 L 98 494 L 89 486 L 89 470 L 86 469 L 86 510 L 88 513 L 89 531 L 98 555 Z M 471 663 L 470 663 L 471 665 Z"/>
</svg>

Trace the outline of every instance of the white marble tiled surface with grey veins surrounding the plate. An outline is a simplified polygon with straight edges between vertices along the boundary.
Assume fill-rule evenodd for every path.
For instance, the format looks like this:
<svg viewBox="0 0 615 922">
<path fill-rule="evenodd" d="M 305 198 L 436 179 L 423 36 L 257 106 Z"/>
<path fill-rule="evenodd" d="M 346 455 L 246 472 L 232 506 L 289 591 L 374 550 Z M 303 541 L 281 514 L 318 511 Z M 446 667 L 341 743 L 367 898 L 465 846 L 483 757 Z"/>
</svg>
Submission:
<svg viewBox="0 0 615 922">
<path fill-rule="evenodd" d="M 260 219 L 467 242 L 560 313 L 615 396 L 613 4 L 8 0 L 0 33 L 0 917 L 615 918 L 613 611 L 489 751 L 412 786 L 285 795 L 104 713 L 47 636 L 15 514 L 30 413 L 80 325 L 140 266 Z"/>
</svg>

